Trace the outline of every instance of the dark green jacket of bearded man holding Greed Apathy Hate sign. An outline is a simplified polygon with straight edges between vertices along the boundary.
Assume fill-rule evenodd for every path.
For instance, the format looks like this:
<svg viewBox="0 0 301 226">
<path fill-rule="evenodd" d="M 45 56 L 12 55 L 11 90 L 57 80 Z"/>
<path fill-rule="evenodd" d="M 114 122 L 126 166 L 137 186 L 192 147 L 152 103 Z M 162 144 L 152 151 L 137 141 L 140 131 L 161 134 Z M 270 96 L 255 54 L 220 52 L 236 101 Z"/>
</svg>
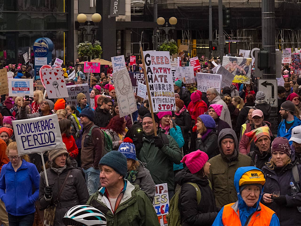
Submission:
<svg viewBox="0 0 301 226">
<path fill-rule="evenodd" d="M 155 147 L 153 136 L 143 134 L 143 145 L 138 159 L 146 163 L 155 184 L 167 183 L 168 191 L 174 191 L 175 175 L 173 173 L 173 163 L 180 164 L 182 152 L 175 139 L 166 135 L 163 131 L 159 127 L 157 132 L 158 137 L 161 137 L 165 144 L 161 149 Z"/>
</svg>

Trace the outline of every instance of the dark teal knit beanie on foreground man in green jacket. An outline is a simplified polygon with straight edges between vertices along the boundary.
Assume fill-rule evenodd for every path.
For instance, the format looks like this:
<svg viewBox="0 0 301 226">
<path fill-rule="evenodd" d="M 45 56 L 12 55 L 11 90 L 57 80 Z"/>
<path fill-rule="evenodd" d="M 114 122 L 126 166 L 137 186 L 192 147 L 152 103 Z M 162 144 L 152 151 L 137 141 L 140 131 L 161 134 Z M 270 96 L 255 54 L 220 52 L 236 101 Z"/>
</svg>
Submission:
<svg viewBox="0 0 301 226">
<path fill-rule="evenodd" d="M 99 165 L 110 166 L 123 177 L 126 177 L 126 173 L 128 172 L 126 156 L 118 151 L 110 151 L 107 154 L 105 154 L 100 159 Z"/>
</svg>

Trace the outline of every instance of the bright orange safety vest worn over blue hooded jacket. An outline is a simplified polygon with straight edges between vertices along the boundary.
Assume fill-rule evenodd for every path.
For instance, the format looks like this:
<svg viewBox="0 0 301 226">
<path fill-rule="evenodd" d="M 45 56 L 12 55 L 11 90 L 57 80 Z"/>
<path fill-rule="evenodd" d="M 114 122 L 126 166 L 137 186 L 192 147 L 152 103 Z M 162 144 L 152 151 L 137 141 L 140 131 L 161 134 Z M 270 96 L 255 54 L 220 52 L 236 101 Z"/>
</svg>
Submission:
<svg viewBox="0 0 301 226">
<path fill-rule="evenodd" d="M 222 221 L 225 226 L 241 226 L 240 218 L 239 218 L 239 210 L 237 212 L 232 208 L 235 204 L 230 203 L 224 206 Z M 272 215 L 275 213 L 272 209 L 266 207 L 265 205 L 259 203 L 261 210 L 253 213 L 250 218 L 248 224 L 246 226 L 269 226 Z M 238 224 L 239 223 L 239 224 Z"/>
</svg>

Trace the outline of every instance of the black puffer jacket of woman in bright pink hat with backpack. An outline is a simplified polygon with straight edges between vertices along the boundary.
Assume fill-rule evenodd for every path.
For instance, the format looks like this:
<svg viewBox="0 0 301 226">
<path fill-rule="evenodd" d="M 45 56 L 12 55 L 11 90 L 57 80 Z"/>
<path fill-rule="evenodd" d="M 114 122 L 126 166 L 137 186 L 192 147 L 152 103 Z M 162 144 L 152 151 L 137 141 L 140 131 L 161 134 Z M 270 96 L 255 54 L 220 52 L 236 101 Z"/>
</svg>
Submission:
<svg viewBox="0 0 301 226">
<path fill-rule="evenodd" d="M 175 175 L 175 180 L 181 185 L 179 196 L 179 210 L 181 215 L 181 225 L 212 225 L 217 216 L 215 198 L 207 177 L 196 177 L 185 167 Z M 197 204 L 197 193 L 191 184 L 196 183 L 201 191 L 201 201 Z"/>
</svg>

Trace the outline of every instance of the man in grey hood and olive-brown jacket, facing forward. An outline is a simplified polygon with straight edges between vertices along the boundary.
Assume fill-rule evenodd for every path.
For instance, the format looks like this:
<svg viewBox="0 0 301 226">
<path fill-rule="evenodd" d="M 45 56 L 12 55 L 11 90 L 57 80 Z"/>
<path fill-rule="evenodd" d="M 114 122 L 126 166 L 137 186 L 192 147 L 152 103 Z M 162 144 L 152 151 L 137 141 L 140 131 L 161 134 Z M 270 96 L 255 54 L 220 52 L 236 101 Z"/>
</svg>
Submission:
<svg viewBox="0 0 301 226">
<path fill-rule="evenodd" d="M 237 201 L 237 193 L 233 184 L 237 168 L 253 166 L 252 159 L 238 152 L 237 137 L 232 129 L 223 129 L 218 138 L 219 155 L 209 159 L 209 180 L 215 195 L 215 202 L 221 208 L 231 202 Z"/>
</svg>

